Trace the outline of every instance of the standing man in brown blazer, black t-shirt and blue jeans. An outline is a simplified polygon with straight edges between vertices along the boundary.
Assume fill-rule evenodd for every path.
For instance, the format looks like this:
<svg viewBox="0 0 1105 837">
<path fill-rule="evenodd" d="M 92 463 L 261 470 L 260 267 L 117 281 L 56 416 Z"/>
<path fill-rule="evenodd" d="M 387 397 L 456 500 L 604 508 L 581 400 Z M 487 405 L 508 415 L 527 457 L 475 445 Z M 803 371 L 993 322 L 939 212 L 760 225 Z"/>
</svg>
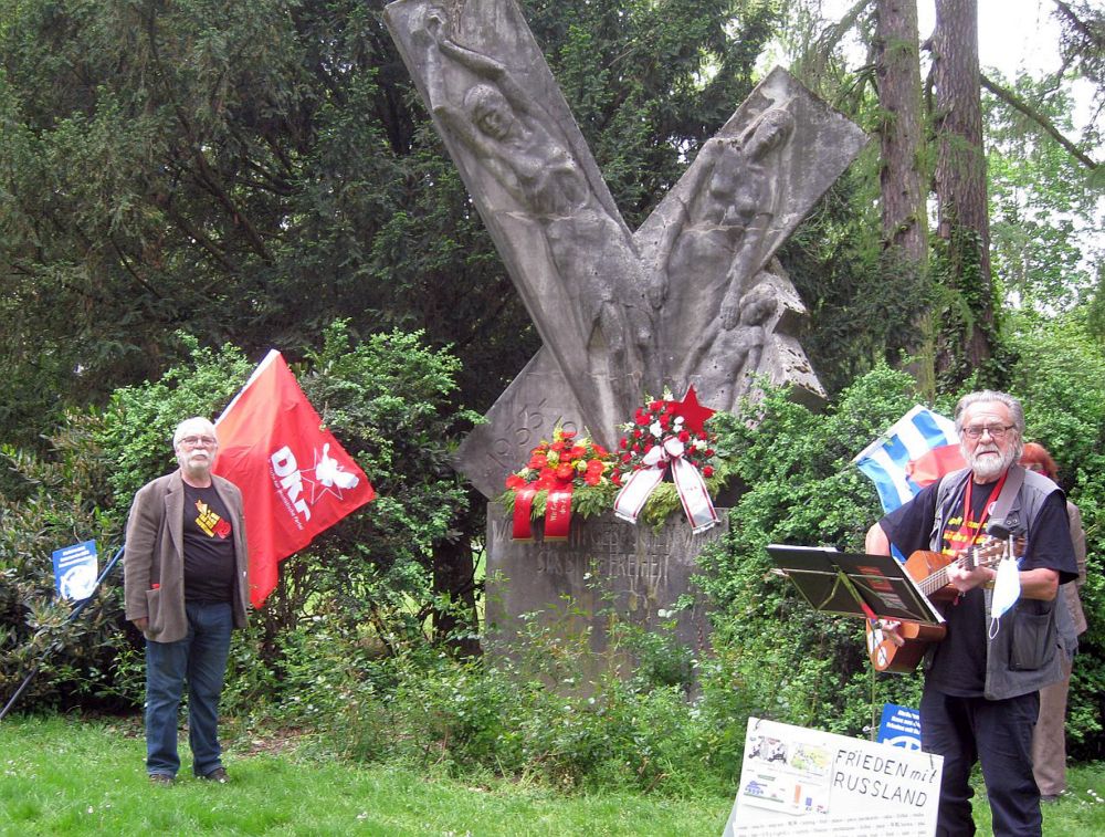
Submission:
<svg viewBox="0 0 1105 837">
<path fill-rule="evenodd" d="M 211 473 L 219 440 L 210 421 L 180 422 L 172 448 L 180 468 L 135 494 L 123 555 L 126 617 L 146 637 L 146 772 L 171 785 L 180 768 L 187 681 L 192 771 L 222 783 L 219 698 L 249 596 L 242 494 Z"/>
</svg>

